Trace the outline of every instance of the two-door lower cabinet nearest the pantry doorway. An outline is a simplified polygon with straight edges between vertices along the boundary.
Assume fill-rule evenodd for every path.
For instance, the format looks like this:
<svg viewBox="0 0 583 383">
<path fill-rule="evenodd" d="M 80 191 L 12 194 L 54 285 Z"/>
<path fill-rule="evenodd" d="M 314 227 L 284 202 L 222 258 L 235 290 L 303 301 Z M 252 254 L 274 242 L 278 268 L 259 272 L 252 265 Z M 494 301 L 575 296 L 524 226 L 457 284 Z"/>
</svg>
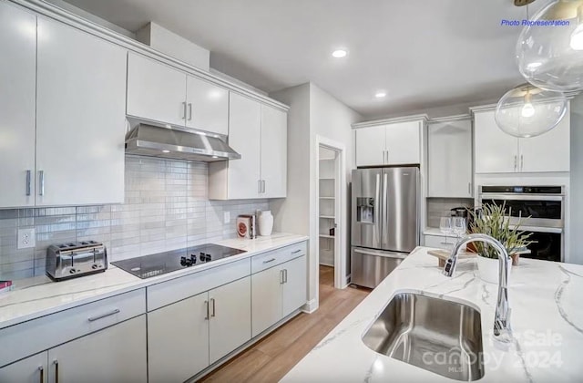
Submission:
<svg viewBox="0 0 583 383">
<path fill-rule="evenodd" d="M 305 255 L 252 274 L 252 336 L 258 336 L 305 303 Z"/>
</svg>

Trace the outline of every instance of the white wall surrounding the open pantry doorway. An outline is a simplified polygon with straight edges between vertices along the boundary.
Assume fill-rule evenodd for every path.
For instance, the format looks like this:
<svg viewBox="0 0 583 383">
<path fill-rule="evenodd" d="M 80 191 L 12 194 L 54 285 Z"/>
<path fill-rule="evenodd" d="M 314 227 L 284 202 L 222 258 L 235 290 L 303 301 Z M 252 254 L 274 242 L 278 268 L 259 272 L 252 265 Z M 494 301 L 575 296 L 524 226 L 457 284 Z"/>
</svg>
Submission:
<svg viewBox="0 0 583 383">
<path fill-rule="evenodd" d="M 308 255 L 308 301 L 310 310 L 317 307 L 317 225 L 316 217 L 316 136 L 343 143 L 346 152 L 346 191 L 353 169 L 353 129 L 361 116 L 312 83 L 283 89 L 271 98 L 290 105 L 288 114 L 288 197 L 270 203 L 275 217 L 274 229 L 281 232 L 311 235 Z M 348 199 L 345 223 L 349 228 Z M 347 230 L 349 234 L 350 231 Z M 349 236 L 349 235 L 348 235 Z M 346 246 L 349 245 L 347 239 Z M 348 248 L 347 248 L 347 254 Z M 350 264 L 347 264 L 347 270 Z"/>
</svg>

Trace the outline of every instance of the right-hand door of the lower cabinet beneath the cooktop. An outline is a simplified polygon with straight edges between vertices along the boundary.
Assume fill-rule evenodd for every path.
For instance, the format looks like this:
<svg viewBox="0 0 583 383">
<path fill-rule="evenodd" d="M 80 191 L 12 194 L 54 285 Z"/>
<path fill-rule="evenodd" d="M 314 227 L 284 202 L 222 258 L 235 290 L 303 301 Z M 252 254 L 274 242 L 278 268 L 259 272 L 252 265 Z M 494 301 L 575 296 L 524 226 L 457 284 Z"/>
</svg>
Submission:
<svg viewBox="0 0 583 383">
<path fill-rule="evenodd" d="M 210 364 L 251 339 L 251 276 L 209 292 Z"/>
</svg>

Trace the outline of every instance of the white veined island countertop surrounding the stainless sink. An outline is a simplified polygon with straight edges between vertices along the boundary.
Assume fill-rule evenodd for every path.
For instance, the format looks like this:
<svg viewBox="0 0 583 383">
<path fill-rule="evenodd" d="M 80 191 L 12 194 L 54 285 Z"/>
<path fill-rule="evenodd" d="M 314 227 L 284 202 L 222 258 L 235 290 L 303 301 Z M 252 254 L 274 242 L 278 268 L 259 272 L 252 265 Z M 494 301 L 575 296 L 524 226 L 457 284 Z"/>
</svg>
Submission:
<svg viewBox="0 0 583 383">
<path fill-rule="evenodd" d="M 497 285 L 476 275 L 476 260 L 460 260 L 453 278 L 418 247 L 381 285 L 293 367 L 284 382 L 450 381 L 392 357 L 361 340 L 398 292 L 416 292 L 471 305 L 481 313 L 485 376 L 480 382 L 575 382 L 583 376 L 583 265 L 521 259 L 509 278 L 509 350 L 492 340 Z"/>
</svg>

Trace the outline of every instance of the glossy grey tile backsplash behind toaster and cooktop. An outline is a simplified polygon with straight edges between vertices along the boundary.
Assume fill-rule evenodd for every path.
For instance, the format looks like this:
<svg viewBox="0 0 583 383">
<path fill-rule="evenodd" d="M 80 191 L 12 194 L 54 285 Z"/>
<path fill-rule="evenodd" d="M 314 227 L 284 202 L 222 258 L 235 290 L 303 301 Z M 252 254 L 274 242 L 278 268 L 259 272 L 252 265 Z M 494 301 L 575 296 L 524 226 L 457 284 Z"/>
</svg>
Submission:
<svg viewBox="0 0 583 383">
<path fill-rule="evenodd" d="M 52 243 L 100 241 L 112 262 L 234 237 L 237 215 L 258 209 L 268 200 L 210 201 L 205 162 L 127 156 L 123 204 L 0 210 L 0 279 L 45 274 Z M 17 250 L 23 227 L 35 227 L 36 246 Z"/>
</svg>

